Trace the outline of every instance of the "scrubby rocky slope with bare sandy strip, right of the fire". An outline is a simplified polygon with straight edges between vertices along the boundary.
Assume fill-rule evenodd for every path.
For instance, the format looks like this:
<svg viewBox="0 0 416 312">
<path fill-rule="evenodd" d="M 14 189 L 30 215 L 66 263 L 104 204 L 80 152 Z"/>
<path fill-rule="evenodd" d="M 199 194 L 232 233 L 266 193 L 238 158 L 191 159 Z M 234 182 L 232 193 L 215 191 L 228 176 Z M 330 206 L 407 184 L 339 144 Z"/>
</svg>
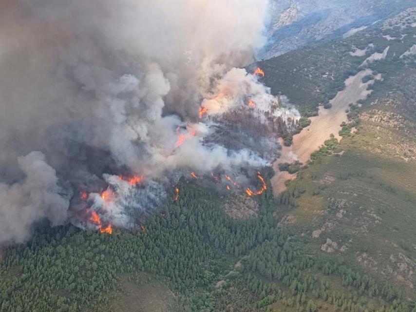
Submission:
<svg viewBox="0 0 416 312">
<path fill-rule="evenodd" d="M 305 116 L 316 115 L 315 105 L 332 104 L 321 106 L 283 148 L 292 159 L 278 163 L 307 163 L 297 177 L 276 164 L 276 193 L 286 188 L 279 177 L 294 178 L 280 195 L 281 202 L 294 202 L 286 226 L 310 237 L 311 253 L 348 258 L 409 294 L 416 285 L 415 18 L 415 9 L 408 9 L 351 38 L 261 64 L 273 91 Z M 296 71 L 288 71 L 288 59 L 298 64 Z M 351 79 L 359 79 L 353 89 Z M 308 144 L 323 146 L 331 134 L 334 139 L 311 155 Z M 328 242 L 335 247 L 328 249 Z"/>
</svg>

